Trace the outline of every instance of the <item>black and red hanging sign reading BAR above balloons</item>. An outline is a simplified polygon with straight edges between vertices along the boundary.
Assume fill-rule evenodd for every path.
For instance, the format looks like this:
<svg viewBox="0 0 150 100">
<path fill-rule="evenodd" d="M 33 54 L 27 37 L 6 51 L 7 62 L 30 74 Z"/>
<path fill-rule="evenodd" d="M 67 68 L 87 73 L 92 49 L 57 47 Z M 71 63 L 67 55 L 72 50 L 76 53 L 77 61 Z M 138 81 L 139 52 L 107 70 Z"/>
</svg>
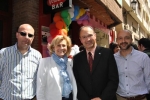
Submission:
<svg viewBox="0 0 150 100">
<path fill-rule="evenodd" d="M 59 10 L 72 7 L 72 0 L 48 0 L 47 4 L 51 7 L 51 10 Z"/>
</svg>

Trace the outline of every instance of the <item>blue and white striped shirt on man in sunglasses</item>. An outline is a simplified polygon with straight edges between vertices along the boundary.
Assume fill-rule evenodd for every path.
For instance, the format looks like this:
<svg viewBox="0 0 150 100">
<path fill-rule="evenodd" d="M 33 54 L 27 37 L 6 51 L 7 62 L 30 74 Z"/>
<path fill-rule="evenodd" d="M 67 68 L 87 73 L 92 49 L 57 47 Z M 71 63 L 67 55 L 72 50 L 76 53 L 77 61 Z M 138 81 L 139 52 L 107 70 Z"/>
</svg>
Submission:
<svg viewBox="0 0 150 100">
<path fill-rule="evenodd" d="M 17 44 L 0 50 L 0 98 L 4 100 L 32 99 L 36 94 L 36 77 L 40 52 L 29 47 L 23 55 Z"/>
</svg>

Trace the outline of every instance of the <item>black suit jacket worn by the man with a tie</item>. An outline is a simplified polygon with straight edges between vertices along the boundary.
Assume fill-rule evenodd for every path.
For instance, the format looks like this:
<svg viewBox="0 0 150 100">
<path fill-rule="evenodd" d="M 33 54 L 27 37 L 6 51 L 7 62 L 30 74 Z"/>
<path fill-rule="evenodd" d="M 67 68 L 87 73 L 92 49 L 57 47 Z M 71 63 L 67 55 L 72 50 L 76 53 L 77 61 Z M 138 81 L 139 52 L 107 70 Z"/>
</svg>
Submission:
<svg viewBox="0 0 150 100">
<path fill-rule="evenodd" d="M 73 71 L 77 81 L 78 100 L 116 100 L 118 70 L 113 53 L 103 47 L 96 47 L 92 72 L 87 61 L 86 51 L 73 58 Z"/>
</svg>

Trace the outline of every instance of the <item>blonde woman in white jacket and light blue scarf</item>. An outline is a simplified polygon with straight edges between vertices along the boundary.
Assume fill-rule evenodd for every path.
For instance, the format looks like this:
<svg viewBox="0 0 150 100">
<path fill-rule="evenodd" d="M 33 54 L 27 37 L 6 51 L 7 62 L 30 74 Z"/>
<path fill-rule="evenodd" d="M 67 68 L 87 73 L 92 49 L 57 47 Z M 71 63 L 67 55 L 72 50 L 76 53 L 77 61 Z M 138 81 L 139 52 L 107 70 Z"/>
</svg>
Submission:
<svg viewBox="0 0 150 100">
<path fill-rule="evenodd" d="M 76 100 L 77 87 L 68 59 L 71 40 L 56 36 L 49 46 L 51 57 L 42 58 L 37 75 L 37 100 Z"/>
</svg>

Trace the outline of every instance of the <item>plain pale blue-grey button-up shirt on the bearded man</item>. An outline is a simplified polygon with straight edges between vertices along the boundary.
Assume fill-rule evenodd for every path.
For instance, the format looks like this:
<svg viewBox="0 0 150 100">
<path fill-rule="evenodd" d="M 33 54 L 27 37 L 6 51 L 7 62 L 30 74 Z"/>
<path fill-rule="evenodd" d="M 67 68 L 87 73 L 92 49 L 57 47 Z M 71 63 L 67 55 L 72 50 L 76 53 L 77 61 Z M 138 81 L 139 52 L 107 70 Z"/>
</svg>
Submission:
<svg viewBox="0 0 150 100">
<path fill-rule="evenodd" d="M 126 57 L 114 54 L 119 72 L 117 94 L 133 97 L 150 91 L 150 59 L 147 54 L 132 48 Z"/>
</svg>

